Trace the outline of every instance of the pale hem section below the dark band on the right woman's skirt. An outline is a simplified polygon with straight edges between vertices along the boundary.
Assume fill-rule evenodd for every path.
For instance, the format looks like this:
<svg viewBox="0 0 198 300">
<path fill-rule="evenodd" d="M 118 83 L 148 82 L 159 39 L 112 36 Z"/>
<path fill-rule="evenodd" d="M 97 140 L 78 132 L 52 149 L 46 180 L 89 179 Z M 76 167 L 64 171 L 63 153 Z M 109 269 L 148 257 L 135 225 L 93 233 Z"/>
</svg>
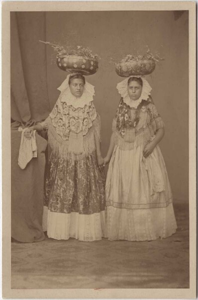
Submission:
<svg viewBox="0 0 198 300">
<path fill-rule="evenodd" d="M 173 204 L 163 208 L 125 209 L 107 206 L 107 236 L 129 241 L 165 238 L 176 232 Z"/>
</svg>

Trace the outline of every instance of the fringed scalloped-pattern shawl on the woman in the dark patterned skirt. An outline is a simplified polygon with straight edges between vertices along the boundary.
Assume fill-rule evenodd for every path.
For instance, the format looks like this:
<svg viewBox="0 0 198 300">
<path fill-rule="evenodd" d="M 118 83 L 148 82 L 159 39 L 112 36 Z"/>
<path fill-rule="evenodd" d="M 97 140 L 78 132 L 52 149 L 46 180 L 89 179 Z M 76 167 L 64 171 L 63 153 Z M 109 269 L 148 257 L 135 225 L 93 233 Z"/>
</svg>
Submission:
<svg viewBox="0 0 198 300">
<path fill-rule="evenodd" d="M 59 113 L 60 105 L 65 114 Z M 41 125 L 48 131 L 52 151 L 65 159 L 79 160 L 91 154 L 96 149 L 95 139 L 100 141 L 100 116 L 92 101 L 82 108 L 57 101 Z"/>
</svg>

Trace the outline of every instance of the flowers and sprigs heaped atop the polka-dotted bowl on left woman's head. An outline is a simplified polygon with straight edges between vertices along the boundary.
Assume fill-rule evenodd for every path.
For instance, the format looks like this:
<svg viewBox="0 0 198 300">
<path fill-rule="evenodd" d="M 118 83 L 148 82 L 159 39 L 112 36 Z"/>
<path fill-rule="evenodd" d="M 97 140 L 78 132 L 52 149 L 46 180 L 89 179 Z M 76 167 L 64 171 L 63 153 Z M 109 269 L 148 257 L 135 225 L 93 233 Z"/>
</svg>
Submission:
<svg viewBox="0 0 198 300">
<path fill-rule="evenodd" d="M 57 55 L 84 56 L 97 61 L 100 59 L 99 55 L 96 53 L 92 53 L 92 50 L 89 47 L 83 47 L 81 45 L 71 47 L 71 46 L 61 45 L 57 42 L 51 43 L 49 41 L 43 41 L 43 40 L 39 40 L 39 41 L 52 46 L 52 48 L 54 49 Z"/>
</svg>

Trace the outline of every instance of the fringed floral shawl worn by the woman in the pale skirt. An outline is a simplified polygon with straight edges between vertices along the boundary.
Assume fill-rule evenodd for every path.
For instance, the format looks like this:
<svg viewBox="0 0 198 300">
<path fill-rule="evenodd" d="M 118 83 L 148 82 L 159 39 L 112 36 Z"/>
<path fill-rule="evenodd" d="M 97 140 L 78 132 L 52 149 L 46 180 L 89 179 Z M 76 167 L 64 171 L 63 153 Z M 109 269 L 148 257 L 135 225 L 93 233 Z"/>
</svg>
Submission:
<svg viewBox="0 0 198 300">
<path fill-rule="evenodd" d="M 135 143 L 147 144 L 162 127 L 164 122 L 149 99 L 142 100 L 136 109 L 121 98 L 112 126 L 115 143 L 121 149 L 133 149 Z"/>
</svg>

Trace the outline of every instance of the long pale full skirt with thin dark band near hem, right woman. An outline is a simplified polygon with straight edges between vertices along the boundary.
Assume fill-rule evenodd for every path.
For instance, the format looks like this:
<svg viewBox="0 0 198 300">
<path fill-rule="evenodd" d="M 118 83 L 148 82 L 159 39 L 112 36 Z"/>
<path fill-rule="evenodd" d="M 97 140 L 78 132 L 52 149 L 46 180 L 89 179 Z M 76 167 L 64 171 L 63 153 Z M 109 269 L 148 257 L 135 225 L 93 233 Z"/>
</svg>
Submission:
<svg viewBox="0 0 198 300">
<path fill-rule="evenodd" d="M 159 146 L 147 158 L 143 145 L 114 147 L 106 180 L 107 237 L 152 240 L 176 232 L 172 192 Z"/>
</svg>

